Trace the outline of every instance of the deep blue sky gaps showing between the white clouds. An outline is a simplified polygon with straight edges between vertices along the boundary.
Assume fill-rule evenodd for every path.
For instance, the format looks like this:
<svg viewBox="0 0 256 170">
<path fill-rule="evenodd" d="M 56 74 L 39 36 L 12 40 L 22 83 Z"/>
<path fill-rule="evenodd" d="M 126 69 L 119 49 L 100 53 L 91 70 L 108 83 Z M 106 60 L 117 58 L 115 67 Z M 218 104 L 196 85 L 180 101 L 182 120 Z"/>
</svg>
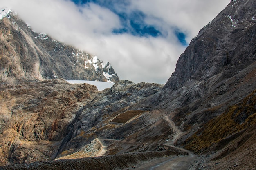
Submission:
<svg viewBox="0 0 256 170">
<path fill-rule="evenodd" d="M 129 0 L 72 0 L 76 5 L 83 6 L 88 3 L 94 3 L 101 7 L 110 9 L 118 15 L 121 22 L 121 28 L 112 30 L 114 34 L 128 33 L 139 37 L 164 37 L 160 29 L 156 25 L 147 24 L 144 20 L 148 17 L 145 13 L 139 10 L 126 11 L 126 7 L 130 5 Z M 123 10 L 120 10 L 123 9 Z M 180 44 L 187 46 L 186 34 L 179 29 L 174 30 Z"/>
</svg>

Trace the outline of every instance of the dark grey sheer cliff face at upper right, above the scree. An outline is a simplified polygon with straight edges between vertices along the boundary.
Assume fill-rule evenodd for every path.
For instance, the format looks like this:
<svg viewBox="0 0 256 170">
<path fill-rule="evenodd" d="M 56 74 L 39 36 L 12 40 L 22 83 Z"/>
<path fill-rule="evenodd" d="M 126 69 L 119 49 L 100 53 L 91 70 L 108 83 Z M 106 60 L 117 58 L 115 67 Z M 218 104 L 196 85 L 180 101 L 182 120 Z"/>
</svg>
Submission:
<svg viewBox="0 0 256 170">
<path fill-rule="evenodd" d="M 234 76 L 255 61 L 256 4 L 233 1 L 193 38 L 176 64 L 165 88 L 177 89 L 189 80 L 222 74 Z"/>
</svg>

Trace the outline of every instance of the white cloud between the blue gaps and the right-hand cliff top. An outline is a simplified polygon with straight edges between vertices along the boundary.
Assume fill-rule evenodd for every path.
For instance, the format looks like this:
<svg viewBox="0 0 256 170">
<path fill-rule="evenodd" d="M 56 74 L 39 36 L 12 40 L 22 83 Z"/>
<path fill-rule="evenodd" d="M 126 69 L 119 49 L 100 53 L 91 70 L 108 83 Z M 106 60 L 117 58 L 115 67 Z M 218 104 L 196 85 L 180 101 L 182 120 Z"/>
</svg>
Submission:
<svg viewBox="0 0 256 170">
<path fill-rule="evenodd" d="M 198 31 L 222 11 L 230 0 L 131 0 L 132 8 L 148 15 L 149 24 L 161 19 L 168 31 L 180 28 L 190 41 Z M 155 20 L 153 20 L 155 18 Z M 159 21 L 158 21 L 159 22 Z"/>
</svg>

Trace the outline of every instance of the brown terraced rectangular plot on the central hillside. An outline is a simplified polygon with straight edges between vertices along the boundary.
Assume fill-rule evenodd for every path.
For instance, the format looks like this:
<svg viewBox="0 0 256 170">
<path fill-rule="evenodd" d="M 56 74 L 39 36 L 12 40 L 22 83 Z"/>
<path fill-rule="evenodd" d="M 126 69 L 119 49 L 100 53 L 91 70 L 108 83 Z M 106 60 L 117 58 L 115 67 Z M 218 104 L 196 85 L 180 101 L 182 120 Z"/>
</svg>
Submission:
<svg viewBox="0 0 256 170">
<path fill-rule="evenodd" d="M 110 123 L 125 124 L 127 121 L 129 121 L 133 117 L 135 117 L 135 116 L 137 116 L 137 115 L 139 115 L 139 114 L 141 114 L 143 112 L 145 112 L 145 111 L 142 111 L 142 110 L 130 110 L 130 111 L 127 111 L 125 113 L 122 113 L 122 114 L 118 115 L 112 121 L 110 121 Z"/>
</svg>

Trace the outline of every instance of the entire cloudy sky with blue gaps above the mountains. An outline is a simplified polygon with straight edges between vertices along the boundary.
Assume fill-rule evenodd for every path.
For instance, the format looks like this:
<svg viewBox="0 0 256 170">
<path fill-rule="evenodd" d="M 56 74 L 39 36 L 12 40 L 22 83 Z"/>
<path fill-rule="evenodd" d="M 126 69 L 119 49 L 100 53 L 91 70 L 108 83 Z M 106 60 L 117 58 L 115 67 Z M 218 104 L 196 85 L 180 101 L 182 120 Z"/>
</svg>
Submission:
<svg viewBox="0 0 256 170">
<path fill-rule="evenodd" d="M 108 61 L 135 83 L 164 84 L 230 0 L 0 0 L 38 33 Z"/>
</svg>

